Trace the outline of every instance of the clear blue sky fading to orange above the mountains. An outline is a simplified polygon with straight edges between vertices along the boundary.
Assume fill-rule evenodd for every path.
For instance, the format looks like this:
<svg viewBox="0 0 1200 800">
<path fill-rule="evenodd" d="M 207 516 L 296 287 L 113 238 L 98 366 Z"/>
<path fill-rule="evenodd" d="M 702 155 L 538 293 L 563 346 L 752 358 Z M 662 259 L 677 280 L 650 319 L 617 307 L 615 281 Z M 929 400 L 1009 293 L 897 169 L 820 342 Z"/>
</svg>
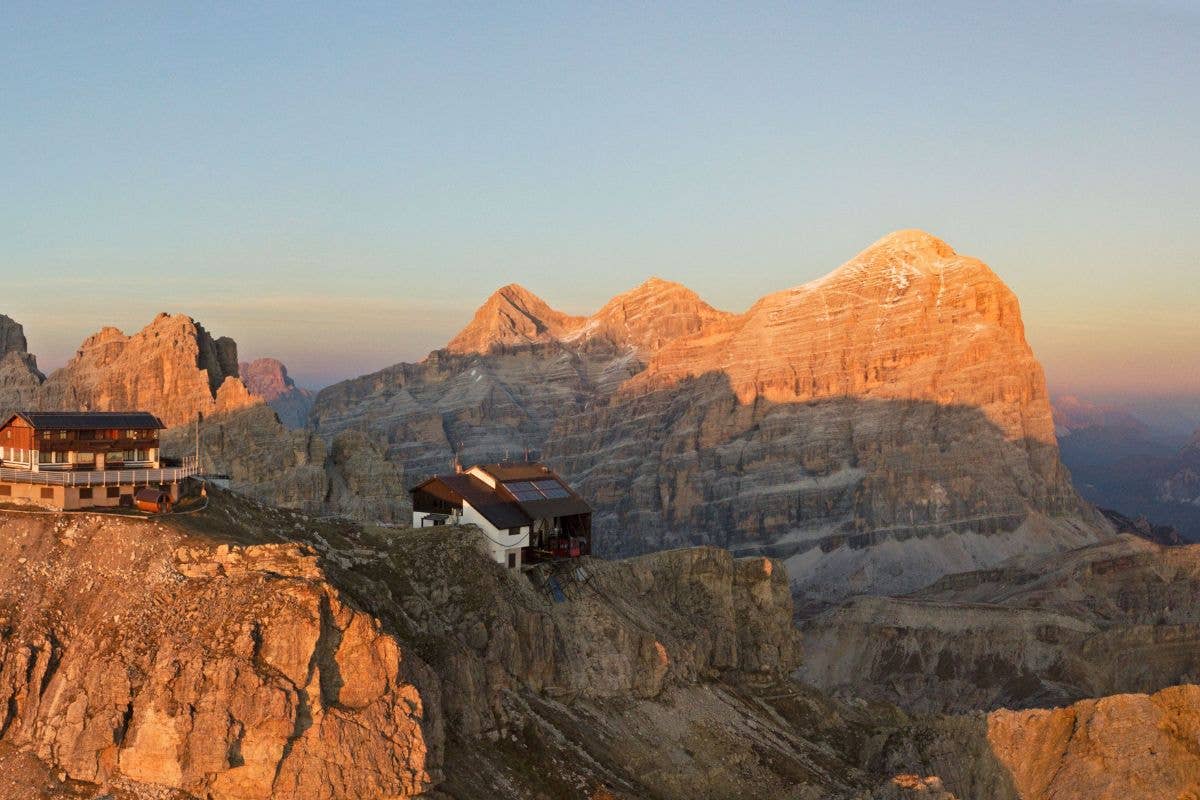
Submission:
<svg viewBox="0 0 1200 800">
<path fill-rule="evenodd" d="M 0 7 L 0 313 L 158 311 L 308 386 L 496 288 L 739 311 L 890 230 L 982 258 L 1055 390 L 1200 393 L 1200 5 Z"/>
</svg>

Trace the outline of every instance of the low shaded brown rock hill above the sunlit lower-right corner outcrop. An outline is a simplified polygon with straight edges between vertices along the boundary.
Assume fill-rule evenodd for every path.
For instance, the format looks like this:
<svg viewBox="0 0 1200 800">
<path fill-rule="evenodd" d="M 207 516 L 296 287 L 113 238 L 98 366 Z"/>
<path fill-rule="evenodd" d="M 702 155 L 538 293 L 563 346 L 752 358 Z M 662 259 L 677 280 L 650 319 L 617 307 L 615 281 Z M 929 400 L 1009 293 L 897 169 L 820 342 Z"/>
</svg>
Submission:
<svg viewBox="0 0 1200 800">
<path fill-rule="evenodd" d="M 1198 589 L 1200 547 L 1123 536 L 827 610 L 798 674 L 923 712 L 1154 692 L 1200 679 Z"/>
</svg>

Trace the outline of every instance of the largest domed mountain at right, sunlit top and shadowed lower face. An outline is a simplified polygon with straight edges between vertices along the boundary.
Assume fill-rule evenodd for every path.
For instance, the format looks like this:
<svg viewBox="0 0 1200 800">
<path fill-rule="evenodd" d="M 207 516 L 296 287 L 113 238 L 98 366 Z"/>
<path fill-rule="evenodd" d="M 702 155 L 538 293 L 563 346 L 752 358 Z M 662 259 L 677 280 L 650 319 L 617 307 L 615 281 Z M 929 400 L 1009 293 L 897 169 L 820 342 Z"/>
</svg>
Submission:
<svg viewBox="0 0 1200 800">
<path fill-rule="evenodd" d="M 756 547 L 821 600 L 1105 528 L 1058 462 L 1015 296 L 920 231 L 674 339 L 547 451 L 624 531 L 607 552 Z"/>
</svg>

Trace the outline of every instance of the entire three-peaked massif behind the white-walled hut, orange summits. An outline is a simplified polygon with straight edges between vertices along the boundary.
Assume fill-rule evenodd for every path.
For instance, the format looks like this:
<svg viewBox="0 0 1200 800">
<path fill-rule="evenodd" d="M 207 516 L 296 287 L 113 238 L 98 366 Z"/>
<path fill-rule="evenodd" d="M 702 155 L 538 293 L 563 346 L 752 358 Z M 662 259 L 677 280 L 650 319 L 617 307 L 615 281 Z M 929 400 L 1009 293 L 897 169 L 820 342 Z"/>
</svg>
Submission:
<svg viewBox="0 0 1200 800">
<path fill-rule="evenodd" d="M 659 279 L 582 319 L 506 287 L 448 350 L 322 392 L 312 423 L 413 481 L 540 453 L 596 506 L 601 552 L 779 555 L 814 603 L 1111 533 L 1058 461 L 1016 297 L 914 230 L 742 314 Z"/>
</svg>

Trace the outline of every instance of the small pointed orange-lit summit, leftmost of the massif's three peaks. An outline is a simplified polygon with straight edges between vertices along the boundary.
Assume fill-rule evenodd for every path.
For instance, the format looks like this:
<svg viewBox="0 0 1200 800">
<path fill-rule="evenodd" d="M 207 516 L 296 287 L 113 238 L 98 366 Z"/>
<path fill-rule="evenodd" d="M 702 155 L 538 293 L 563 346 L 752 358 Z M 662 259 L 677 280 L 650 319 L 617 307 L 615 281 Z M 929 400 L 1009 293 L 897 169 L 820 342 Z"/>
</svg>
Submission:
<svg viewBox="0 0 1200 800">
<path fill-rule="evenodd" d="M 446 349 L 484 354 L 497 345 L 553 341 L 582 321 L 580 317 L 551 308 L 524 287 L 510 283 L 492 293 L 470 323 L 450 339 Z"/>
</svg>

